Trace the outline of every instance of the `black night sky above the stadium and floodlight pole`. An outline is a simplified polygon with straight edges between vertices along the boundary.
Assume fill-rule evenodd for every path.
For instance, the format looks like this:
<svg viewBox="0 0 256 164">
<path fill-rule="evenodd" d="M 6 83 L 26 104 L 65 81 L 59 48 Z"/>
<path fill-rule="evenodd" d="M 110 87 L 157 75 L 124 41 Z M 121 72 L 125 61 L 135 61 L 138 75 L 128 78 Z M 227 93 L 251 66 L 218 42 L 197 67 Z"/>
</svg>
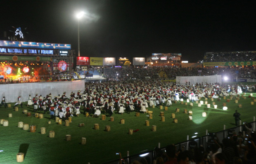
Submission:
<svg viewBox="0 0 256 164">
<path fill-rule="evenodd" d="M 197 62 L 205 52 L 256 50 L 256 1 L 1 0 L 0 9 L 1 39 L 21 27 L 26 41 L 76 51 L 75 13 L 89 13 L 94 20 L 80 21 L 81 56 L 182 53 L 181 60 Z"/>
</svg>

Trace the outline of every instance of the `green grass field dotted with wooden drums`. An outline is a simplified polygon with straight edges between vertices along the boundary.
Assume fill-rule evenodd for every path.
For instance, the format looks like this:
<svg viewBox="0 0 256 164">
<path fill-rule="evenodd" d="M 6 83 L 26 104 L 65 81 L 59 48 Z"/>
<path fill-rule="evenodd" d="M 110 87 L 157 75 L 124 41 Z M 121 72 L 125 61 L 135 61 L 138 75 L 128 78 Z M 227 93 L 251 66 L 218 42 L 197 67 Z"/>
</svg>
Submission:
<svg viewBox="0 0 256 164">
<path fill-rule="evenodd" d="M 247 94 L 248 96 L 248 94 Z M 256 94 L 254 94 L 256 96 Z M 204 98 L 202 98 L 204 101 Z M 196 103 L 193 106 L 181 105 L 173 103 L 168 111 L 160 110 L 159 108 L 148 108 L 153 111 L 153 119 L 149 119 L 148 114 L 140 113 L 140 117 L 135 116 L 135 112 L 130 114 L 124 113 L 119 115 L 114 113 L 114 122 L 110 122 L 110 118 L 106 120 L 99 118 L 73 117 L 69 127 L 58 125 L 55 120 L 51 120 L 48 124 L 49 114 L 45 114 L 43 119 L 34 116 L 27 117 L 22 113 L 23 109 L 15 112 L 13 108 L 0 108 L 0 119 L 6 119 L 9 122 L 8 127 L 0 126 L 0 163 L 13 164 L 16 163 L 16 154 L 18 152 L 26 152 L 24 164 L 59 164 L 73 163 L 85 164 L 100 164 L 119 157 L 115 152 L 121 152 L 124 156 L 129 150 L 130 155 L 143 153 L 143 151 L 153 150 L 154 147 L 161 143 L 164 147 L 171 143 L 179 143 L 187 139 L 187 135 L 204 136 L 206 129 L 209 132 L 223 130 L 223 124 L 226 129 L 235 127 L 234 117 L 232 116 L 235 110 L 241 114 L 242 122 L 252 122 L 253 116 L 256 115 L 256 103 L 251 105 L 251 98 L 243 99 L 240 97 L 239 104 L 242 108 L 238 108 L 235 100 L 227 103 L 228 110 L 222 110 L 223 102 L 214 100 L 218 109 L 206 108 L 206 105 L 198 107 Z M 212 104 L 211 99 L 208 100 Z M 189 103 L 188 103 L 189 104 Z M 12 104 L 13 105 L 13 104 Z M 213 107 L 213 105 L 211 105 Z M 175 113 L 178 118 L 178 124 L 173 123 L 171 113 L 175 112 L 175 108 L 180 108 L 180 112 Z M 188 115 L 183 113 L 183 110 L 193 111 L 193 120 L 188 120 Z M 160 112 L 164 111 L 165 122 L 161 122 Z M 81 111 L 82 112 L 82 111 Z M 207 117 L 202 117 L 202 112 L 207 113 Z M 12 117 L 8 117 L 8 113 L 12 113 Z M 33 114 L 33 112 L 32 112 Z M 125 119 L 125 124 L 120 124 L 120 119 Z M 145 126 L 145 120 L 149 120 L 150 126 Z M 36 125 L 36 133 L 31 133 L 22 128 L 18 128 L 18 122 L 24 124 Z M 85 123 L 84 127 L 78 127 L 79 123 Z M 100 124 L 100 130 L 94 129 L 94 124 Z M 109 125 L 111 131 L 107 132 L 105 126 Z M 157 126 L 157 131 L 153 132 L 152 125 Z M 46 128 L 46 134 L 40 134 L 40 127 Z M 139 129 L 133 135 L 128 134 L 128 129 Z M 49 138 L 49 131 L 55 131 L 55 138 Z M 66 134 L 71 135 L 71 141 L 65 141 Z M 86 138 L 86 145 L 81 145 L 81 138 Z"/>
</svg>

